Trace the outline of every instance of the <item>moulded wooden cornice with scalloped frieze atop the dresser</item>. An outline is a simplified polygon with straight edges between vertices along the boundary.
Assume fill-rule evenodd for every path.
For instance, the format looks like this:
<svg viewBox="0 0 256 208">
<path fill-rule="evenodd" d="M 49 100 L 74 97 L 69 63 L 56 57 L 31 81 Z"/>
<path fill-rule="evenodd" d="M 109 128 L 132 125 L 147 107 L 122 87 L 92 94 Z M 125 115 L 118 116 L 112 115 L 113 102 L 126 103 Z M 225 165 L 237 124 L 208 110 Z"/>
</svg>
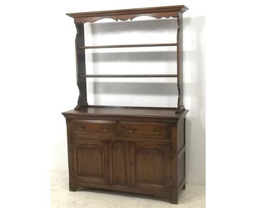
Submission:
<svg viewBox="0 0 256 208">
<path fill-rule="evenodd" d="M 74 18 L 75 23 L 95 22 L 100 19 L 110 18 L 115 21 L 132 20 L 138 16 L 152 16 L 157 19 L 162 17 L 179 17 L 179 13 L 184 13 L 188 8 L 184 5 L 176 5 L 170 7 L 152 7 L 152 8 L 139 8 L 139 9 L 122 9 L 110 11 L 91 11 L 86 13 L 69 13 L 66 14 Z"/>
</svg>

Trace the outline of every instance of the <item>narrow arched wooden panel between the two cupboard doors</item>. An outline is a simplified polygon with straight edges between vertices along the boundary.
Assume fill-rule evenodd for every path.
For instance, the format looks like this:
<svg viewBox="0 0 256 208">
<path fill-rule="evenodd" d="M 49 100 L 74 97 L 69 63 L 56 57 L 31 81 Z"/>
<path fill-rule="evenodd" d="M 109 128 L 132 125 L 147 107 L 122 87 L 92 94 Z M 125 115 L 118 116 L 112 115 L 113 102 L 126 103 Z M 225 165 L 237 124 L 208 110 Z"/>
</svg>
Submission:
<svg viewBox="0 0 256 208">
<path fill-rule="evenodd" d="M 130 186 L 129 142 L 110 141 L 110 183 L 114 186 Z"/>
</svg>

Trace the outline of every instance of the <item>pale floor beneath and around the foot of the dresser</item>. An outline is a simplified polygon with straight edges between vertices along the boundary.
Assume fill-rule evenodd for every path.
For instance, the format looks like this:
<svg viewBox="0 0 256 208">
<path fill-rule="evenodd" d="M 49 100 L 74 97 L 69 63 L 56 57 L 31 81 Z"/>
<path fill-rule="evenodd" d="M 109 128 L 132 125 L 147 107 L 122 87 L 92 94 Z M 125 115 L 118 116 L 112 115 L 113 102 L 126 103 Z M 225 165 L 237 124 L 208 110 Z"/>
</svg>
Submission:
<svg viewBox="0 0 256 208">
<path fill-rule="evenodd" d="M 145 195 L 121 192 L 99 191 L 95 189 L 69 192 L 68 174 L 51 173 L 51 207 L 88 208 L 203 208 L 205 207 L 205 186 L 187 184 L 179 197 L 179 204 L 173 205 L 161 199 Z"/>
</svg>

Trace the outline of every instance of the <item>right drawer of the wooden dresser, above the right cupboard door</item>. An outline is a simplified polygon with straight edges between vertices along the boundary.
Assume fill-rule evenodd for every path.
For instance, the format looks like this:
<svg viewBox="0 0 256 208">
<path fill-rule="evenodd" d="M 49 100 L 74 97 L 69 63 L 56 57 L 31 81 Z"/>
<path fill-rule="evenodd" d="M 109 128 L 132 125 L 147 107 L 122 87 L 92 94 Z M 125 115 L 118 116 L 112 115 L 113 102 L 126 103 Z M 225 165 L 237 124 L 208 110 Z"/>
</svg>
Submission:
<svg viewBox="0 0 256 208">
<path fill-rule="evenodd" d="M 169 137 L 170 124 L 146 122 L 119 122 L 119 134 L 127 136 Z"/>
</svg>

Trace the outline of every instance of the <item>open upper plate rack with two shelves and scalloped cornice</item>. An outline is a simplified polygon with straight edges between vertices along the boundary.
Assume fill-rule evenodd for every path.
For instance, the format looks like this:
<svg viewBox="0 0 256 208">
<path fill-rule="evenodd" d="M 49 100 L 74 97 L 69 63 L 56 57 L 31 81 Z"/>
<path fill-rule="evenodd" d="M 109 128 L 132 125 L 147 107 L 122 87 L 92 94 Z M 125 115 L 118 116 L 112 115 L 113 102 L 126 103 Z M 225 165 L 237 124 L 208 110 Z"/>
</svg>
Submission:
<svg viewBox="0 0 256 208">
<path fill-rule="evenodd" d="M 112 11 L 92 11 L 87 13 L 72 13 L 67 14 L 74 18 L 75 26 L 77 27 L 77 36 L 75 38 L 75 51 L 77 57 L 77 84 L 79 88 L 78 105 L 75 109 L 83 108 L 88 105 L 86 93 L 86 78 L 87 77 L 177 77 L 178 102 L 176 113 L 184 111 L 183 105 L 183 55 L 182 55 L 182 30 L 183 30 L 183 13 L 188 8 L 184 5 L 176 5 L 170 7 L 155 7 L 155 8 L 139 8 L 139 9 L 124 9 Z M 152 16 L 157 19 L 162 17 L 177 18 L 177 42 L 166 44 L 131 44 L 131 45 L 101 45 L 101 46 L 85 46 L 84 42 L 84 23 L 95 22 L 100 19 L 110 18 L 114 20 L 132 20 L 137 16 Z M 85 49 L 94 48 L 120 48 L 120 47 L 155 47 L 155 46 L 176 46 L 177 47 L 177 74 L 174 75 L 86 75 L 85 70 Z"/>
</svg>

